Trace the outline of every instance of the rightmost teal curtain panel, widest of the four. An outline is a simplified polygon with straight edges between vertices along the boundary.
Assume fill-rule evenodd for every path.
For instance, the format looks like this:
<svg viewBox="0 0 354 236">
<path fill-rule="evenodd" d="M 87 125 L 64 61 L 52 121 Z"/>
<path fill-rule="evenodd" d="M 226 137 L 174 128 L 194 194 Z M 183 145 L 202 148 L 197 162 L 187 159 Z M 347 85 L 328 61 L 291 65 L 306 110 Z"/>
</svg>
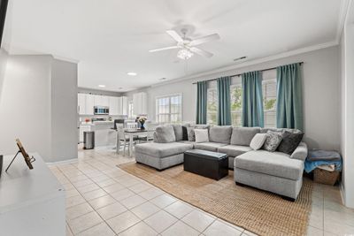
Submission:
<svg viewBox="0 0 354 236">
<path fill-rule="evenodd" d="M 304 131 L 300 64 L 277 67 L 277 127 Z"/>
</svg>

